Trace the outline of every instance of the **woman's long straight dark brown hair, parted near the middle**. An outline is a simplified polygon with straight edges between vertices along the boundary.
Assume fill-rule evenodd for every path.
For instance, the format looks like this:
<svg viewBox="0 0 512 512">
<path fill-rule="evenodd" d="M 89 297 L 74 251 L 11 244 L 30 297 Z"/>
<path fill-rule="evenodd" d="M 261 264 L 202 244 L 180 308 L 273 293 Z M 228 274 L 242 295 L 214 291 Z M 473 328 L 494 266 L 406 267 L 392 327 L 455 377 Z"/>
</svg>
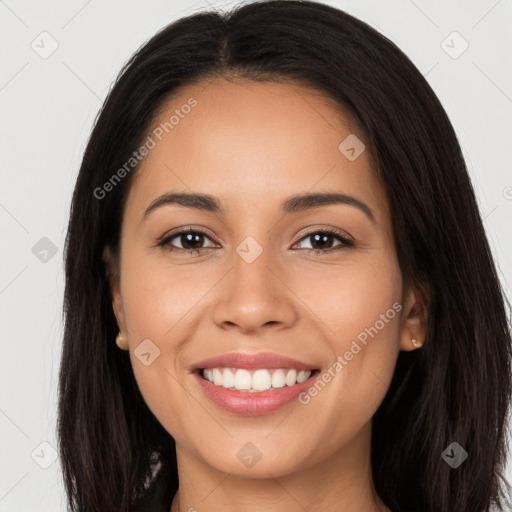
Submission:
<svg viewBox="0 0 512 512">
<path fill-rule="evenodd" d="M 167 25 L 125 64 L 96 118 L 64 251 L 57 429 L 69 506 L 168 511 L 178 488 L 175 441 L 114 341 L 109 285 L 119 276 L 108 275 L 104 251 L 119 255 L 138 167 L 102 199 L 93 192 L 140 147 L 173 94 L 215 77 L 320 91 L 350 113 L 375 159 L 404 283 L 428 297 L 423 348 L 399 353 L 372 419 L 378 495 L 394 512 L 502 510 L 510 491 L 503 470 L 511 331 L 456 134 L 393 42 L 342 10 L 300 0 L 204 11 Z M 457 469 L 441 457 L 452 442 L 469 454 Z"/>
</svg>

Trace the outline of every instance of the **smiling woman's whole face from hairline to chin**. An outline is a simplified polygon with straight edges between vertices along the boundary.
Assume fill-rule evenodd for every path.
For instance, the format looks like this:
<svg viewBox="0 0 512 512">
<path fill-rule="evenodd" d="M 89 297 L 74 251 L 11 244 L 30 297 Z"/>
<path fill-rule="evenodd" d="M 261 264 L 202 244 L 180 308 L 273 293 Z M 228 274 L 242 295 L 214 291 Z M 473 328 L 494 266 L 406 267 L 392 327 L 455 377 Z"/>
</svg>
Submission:
<svg viewBox="0 0 512 512">
<path fill-rule="evenodd" d="M 224 79 L 183 88 L 151 130 L 113 286 L 148 406 L 180 453 L 231 474 L 352 453 L 422 336 L 363 134 L 312 89 Z"/>
</svg>

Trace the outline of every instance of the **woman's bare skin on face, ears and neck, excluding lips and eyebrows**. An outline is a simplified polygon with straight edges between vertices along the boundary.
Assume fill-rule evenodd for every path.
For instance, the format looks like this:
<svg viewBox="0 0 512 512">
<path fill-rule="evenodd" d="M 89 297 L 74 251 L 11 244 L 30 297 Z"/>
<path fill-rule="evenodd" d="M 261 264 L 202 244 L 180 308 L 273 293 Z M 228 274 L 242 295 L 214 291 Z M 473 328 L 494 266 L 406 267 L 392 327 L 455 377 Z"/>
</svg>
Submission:
<svg viewBox="0 0 512 512">
<path fill-rule="evenodd" d="M 405 289 L 391 216 L 369 151 L 349 161 L 338 149 L 357 125 L 321 93 L 290 83 L 216 78 L 186 86 L 152 126 L 194 97 L 198 104 L 150 151 L 137 170 L 123 216 L 120 279 L 113 309 L 123 348 L 148 406 L 174 437 L 180 488 L 171 511 L 386 511 L 370 466 L 372 416 L 400 350 L 423 341 L 425 307 Z M 219 215 L 179 205 L 155 209 L 165 192 L 216 196 Z M 283 214 L 291 195 L 339 192 L 366 203 Z M 193 226 L 206 233 L 199 254 L 169 252 L 160 237 Z M 307 252 L 307 234 L 325 228 L 354 240 Z M 263 252 L 247 263 L 236 248 L 253 237 Z M 175 237 L 169 244 L 187 247 Z M 211 248 L 209 248 L 211 247 Z M 319 246 L 317 246 L 319 247 Z M 365 328 L 402 310 L 306 405 L 243 417 L 220 409 L 190 367 L 227 352 L 274 352 L 321 374 Z M 150 339 L 160 356 L 134 354 Z M 306 426 L 306 427 L 305 427 Z M 252 443 L 261 459 L 237 452 Z"/>
</svg>

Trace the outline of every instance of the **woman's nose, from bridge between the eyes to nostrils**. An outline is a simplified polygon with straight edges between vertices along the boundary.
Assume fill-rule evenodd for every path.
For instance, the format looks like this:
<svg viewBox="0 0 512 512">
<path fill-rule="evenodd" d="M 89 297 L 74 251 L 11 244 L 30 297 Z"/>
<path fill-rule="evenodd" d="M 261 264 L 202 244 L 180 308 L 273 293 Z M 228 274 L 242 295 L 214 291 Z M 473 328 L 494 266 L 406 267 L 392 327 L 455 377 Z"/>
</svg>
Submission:
<svg viewBox="0 0 512 512">
<path fill-rule="evenodd" d="M 231 270 L 217 285 L 213 319 L 220 328 L 257 334 L 289 328 L 297 321 L 295 296 L 270 252 L 263 250 L 250 263 L 234 254 Z"/>
</svg>

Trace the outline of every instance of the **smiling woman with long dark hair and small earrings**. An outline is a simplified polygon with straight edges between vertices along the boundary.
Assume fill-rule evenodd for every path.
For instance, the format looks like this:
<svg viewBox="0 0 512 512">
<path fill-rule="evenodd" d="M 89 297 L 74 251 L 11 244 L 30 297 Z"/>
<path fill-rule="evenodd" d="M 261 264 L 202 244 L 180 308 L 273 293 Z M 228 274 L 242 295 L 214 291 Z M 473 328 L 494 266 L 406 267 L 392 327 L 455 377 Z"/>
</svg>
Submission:
<svg viewBox="0 0 512 512">
<path fill-rule="evenodd" d="M 272 1 L 161 30 L 96 121 L 65 263 L 73 510 L 507 505 L 475 195 L 439 100 L 361 21 Z"/>
</svg>

